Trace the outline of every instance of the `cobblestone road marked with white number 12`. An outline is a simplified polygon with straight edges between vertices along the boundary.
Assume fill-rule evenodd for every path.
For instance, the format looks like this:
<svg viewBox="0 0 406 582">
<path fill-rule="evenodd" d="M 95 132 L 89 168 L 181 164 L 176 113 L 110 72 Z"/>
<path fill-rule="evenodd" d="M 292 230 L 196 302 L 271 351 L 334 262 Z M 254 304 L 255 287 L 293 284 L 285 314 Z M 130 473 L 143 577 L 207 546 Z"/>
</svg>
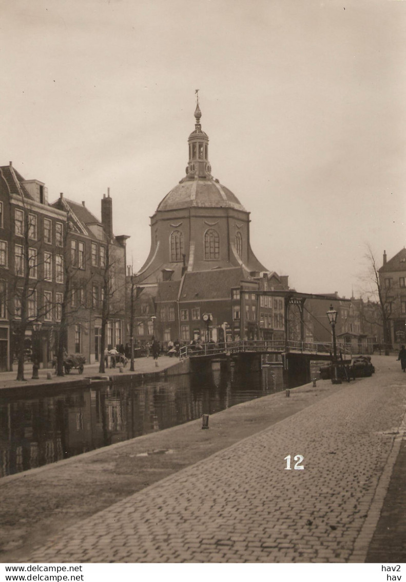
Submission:
<svg viewBox="0 0 406 582">
<path fill-rule="evenodd" d="M 380 512 L 373 498 L 403 431 L 397 368 L 67 528 L 29 561 L 363 562 Z"/>
</svg>

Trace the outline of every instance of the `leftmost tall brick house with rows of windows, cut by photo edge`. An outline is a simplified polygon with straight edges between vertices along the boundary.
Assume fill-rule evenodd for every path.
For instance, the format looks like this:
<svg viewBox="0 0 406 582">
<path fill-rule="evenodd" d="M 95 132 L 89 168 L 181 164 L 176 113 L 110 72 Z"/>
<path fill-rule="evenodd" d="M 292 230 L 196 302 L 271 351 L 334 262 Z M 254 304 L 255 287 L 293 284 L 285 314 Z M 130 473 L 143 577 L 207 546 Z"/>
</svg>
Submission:
<svg viewBox="0 0 406 582">
<path fill-rule="evenodd" d="M 28 318 L 41 317 L 39 336 L 41 363 L 52 357 L 53 331 L 57 324 L 52 309 L 63 292 L 60 255 L 66 213 L 48 204 L 48 190 L 39 180 L 24 180 L 13 168 L 0 167 L 0 370 L 11 370 L 16 334 L 21 325 L 21 285 L 24 264 L 24 228 L 29 221 L 30 295 Z M 62 274 L 63 275 L 63 274 Z M 26 330 L 26 350 L 33 350 L 33 326 Z"/>
</svg>

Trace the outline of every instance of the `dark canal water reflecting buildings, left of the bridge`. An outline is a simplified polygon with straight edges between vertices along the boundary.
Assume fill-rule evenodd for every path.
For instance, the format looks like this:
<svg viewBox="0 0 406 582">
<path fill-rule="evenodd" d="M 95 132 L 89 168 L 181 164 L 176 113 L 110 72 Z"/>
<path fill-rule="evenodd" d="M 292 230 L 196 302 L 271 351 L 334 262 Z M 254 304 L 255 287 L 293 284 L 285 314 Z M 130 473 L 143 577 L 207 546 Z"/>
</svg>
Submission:
<svg viewBox="0 0 406 582">
<path fill-rule="evenodd" d="M 281 368 L 91 385 L 0 404 L 0 476 L 163 430 L 283 388 Z"/>
</svg>

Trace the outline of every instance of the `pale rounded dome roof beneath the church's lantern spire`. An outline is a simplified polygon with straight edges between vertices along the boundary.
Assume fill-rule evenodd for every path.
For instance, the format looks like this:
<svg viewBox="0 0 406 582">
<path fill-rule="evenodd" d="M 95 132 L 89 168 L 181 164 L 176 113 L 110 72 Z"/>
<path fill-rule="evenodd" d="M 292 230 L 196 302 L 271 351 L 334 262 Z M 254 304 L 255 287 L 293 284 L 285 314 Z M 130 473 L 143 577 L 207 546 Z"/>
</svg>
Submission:
<svg viewBox="0 0 406 582">
<path fill-rule="evenodd" d="M 188 207 L 235 208 L 246 212 L 231 190 L 213 179 L 184 179 L 159 204 L 157 211 Z"/>
</svg>

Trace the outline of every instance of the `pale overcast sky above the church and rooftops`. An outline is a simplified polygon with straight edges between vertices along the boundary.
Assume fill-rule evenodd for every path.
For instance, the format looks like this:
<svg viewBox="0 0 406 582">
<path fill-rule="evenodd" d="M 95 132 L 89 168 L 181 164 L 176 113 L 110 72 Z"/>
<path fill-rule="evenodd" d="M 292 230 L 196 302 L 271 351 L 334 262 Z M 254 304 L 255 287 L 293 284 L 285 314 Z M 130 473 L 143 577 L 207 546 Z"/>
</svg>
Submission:
<svg viewBox="0 0 406 582">
<path fill-rule="evenodd" d="M 303 292 L 357 294 L 405 244 L 406 2 L 0 0 L 0 165 L 84 200 L 110 187 L 128 262 L 185 175 L 200 89 L 213 175 Z"/>
</svg>

